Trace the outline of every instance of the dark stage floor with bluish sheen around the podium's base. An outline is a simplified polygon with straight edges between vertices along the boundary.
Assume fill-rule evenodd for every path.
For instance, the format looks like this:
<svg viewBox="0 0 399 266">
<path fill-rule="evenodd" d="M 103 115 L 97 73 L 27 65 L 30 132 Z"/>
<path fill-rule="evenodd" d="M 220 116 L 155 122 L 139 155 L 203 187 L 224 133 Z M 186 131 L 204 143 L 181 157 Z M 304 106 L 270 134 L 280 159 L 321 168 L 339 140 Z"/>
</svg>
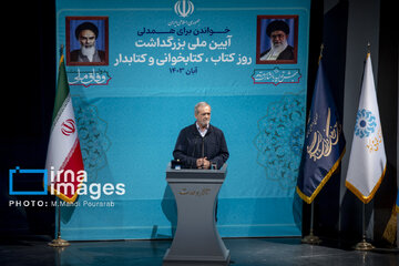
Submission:
<svg viewBox="0 0 399 266">
<path fill-rule="evenodd" d="M 171 241 L 71 242 L 58 249 L 47 245 L 47 237 L 0 242 L 0 265 L 162 265 Z M 399 253 L 386 249 L 356 252 L 341 246 L 311 246 L 299 238 L 227 238 L 232 266 L 320 265 L 320 266 L 398 266 Z"/>
</svg>

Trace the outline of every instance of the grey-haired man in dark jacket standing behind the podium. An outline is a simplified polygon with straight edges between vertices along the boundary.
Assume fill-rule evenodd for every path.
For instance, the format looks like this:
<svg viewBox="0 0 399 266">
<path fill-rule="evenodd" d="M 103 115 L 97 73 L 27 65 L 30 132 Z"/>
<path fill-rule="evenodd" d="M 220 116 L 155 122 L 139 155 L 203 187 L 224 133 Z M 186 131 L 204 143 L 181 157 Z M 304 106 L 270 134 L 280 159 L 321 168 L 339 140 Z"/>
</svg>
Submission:
<svg viewBox="0 0 399 266">
<path fill-rule="evenodd" d="M 173 156 L 185 168 L 221 168 L 228 158 L 223 132 L 209 124 L 211 106 L 200 102 L 194 108 L 196 122 L 184 127 L 177 137 Z"/>
</svg>

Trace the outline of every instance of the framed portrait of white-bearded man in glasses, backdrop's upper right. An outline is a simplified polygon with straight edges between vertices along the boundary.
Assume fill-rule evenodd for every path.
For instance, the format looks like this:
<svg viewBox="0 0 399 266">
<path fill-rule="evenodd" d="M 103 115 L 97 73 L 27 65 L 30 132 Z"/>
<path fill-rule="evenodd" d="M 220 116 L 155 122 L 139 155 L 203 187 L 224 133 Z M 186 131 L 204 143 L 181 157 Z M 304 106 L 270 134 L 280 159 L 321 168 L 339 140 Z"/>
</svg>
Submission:
<svg viewBox="0 0 399 266">
<path fill-rule="evenodd" d="M 297 63 L 298 16 L 258 16 L 256 63 Z"/>
</svg>

